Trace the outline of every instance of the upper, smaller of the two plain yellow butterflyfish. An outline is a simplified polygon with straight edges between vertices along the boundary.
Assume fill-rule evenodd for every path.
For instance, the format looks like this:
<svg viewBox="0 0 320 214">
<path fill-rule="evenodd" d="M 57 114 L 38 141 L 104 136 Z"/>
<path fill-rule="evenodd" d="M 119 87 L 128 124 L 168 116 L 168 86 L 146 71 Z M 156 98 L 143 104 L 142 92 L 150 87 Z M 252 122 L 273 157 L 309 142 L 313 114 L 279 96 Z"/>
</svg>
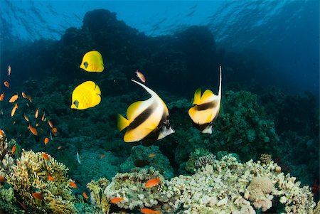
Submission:
<svg viewBox="0 0 320 214">
<path fill-rule="evenodd" d="M 85 53 L 82 58 L 80 68 L 86 70 L 87 72 L 102 72 L 105 68 L 101 53 L 99 53 L 97 50 L 92 50 Z"/>
</svg>

